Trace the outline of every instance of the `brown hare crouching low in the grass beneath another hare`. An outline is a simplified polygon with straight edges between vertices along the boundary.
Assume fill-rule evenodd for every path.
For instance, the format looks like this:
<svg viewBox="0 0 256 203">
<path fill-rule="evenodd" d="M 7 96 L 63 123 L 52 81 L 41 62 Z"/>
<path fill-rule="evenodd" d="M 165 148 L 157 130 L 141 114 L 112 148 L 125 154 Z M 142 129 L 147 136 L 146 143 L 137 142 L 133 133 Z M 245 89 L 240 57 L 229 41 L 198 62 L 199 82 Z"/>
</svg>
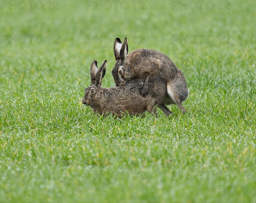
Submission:
<svg viewBox="0 0 256 203">
<path fill-rule="evenodd" d="M 164 105 L 166 84 L 160 77 L 155 77 L 148 83 L 150 93 L 146 97 L 140 95 L 143 80 L 130 80 L 124 86 L 103 88 L 102 78 L 106 72 L 105 60 L 102 66 L 97 67 L 97 61 L 93 61 L 90 67 L 91 84 L 85 89 L 82 103 L 90 106 L 99 114 L 112 113 L 118 117 L 127 112 L 130 115 L 142 114 L 145 111 L 156 114 L 155 106 L 158 106 L 168 116 L 170 110 Z"/>
</svg>

